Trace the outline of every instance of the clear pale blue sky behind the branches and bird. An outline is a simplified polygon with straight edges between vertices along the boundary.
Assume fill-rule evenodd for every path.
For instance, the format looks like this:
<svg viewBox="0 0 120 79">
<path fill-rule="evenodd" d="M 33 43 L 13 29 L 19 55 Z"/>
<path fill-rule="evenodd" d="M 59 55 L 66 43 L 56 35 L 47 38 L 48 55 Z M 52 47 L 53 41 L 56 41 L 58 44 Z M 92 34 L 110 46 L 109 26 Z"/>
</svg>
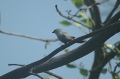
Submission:
<svg viewBox="0 0 120 79">
<path fill-rule="evenodd" d="M 110 9 L 114 5 L 114 0 L 112 2 L 106 2 L 100 5 L 102 20 L 105 19 Z M 77 27 L 71 25 L 70 27 L 63 27 L 59 22 L 65 20 L 61 17 L 55 10 L 55 5 L 65 15 L 66 10 L 72 10 L 72 13 L 77 11 L 76 7 L 71 3 L 71 0 L 0 0 L 0 11 L 1 11 L 1 26 L 0 29 L 29 35 L 32 37 L 39 37 L 43 39 L 55 39 L 56 36 L 52 34 L 52 31 L 56 28 L 62 28 L 64 31 L 68 32 L 75 37 L 85 35 Z M 110 6 L 112 5 L 112 6 Z M 106 6 L 106 8 L 104 8 Z M 119 40 L 120 34 L 116 34 L 106 43 L 113 44 Z M 12 71 L 18 67 L 8 66 L 11 63 L 17 64 L 29 64 L 43 58 L 48 55 L 57 47 L 60 46 L 60 42 L 55 42 L 50 44 L 47 49 L 44 48 L 45 43 L 37 40 L 5 35 L 1 34 L 0 41 L 0 62 L 1 69 L 0 75 L 3 75 L 9 71 Z M 75 44 L 70 47 L 70 50 L 76 48 L 79 44 Z M 59 54 L 63 54 L 64 51 Z M 91 68 L 93 62 L 94 54 L 91 53 L 85 57 L 75 61 L 79 65 L 83 62 L 85 68 Z M 114 67 L 113 61 L 113 67 Z M 80 79 L 83 78 L 79 74 L 78 69 L 69 69 L 66 66 L 62 66 L 51 70 L 52 72 L 62 76 L 64 79 Z M 37 77 L 30 76 L 26 79 L 38 79 Z M 109 73 L 107 75 L 101 75 L 102 78 L 111 78 Z"/>
</svg>

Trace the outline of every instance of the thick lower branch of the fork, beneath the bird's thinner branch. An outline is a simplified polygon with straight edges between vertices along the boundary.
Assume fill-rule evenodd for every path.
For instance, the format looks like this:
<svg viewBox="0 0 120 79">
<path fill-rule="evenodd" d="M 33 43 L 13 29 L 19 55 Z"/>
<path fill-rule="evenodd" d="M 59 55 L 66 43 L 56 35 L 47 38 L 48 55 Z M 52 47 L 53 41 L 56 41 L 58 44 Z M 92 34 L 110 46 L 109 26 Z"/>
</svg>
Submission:
<svg viewBox="0 0 120 79">
<path fill-rule="evenodd" d="M 115 24 L 116 25 L 116 24 Z M 43 64 L 40 64 L 38 67 L 34 68 L 34 72 L 43 72 L 46 70 L 50 70 L 62 65 L 65 65 L 67 63 L 70 63 L 78 58 L 81 58 L 88 53 L 92 52 L 95 48 L 99 47 L 103 42 L 105 42 L 108 38 L 110 38 L 115 33 L 119 32 L 120 30 L 118 28 L 120 25 L 120 22 L 116 25 L 117 27 L 113 26 L 109 30 L 106 30 L 102 33 L 99 33 L 98 35 L 91 38 L 89 41 L 87 41 L 82 46 L 79 46 L 78 48 L 70 51 L 69 53 L 65 53 L 63 55 L 60 55 L 58 57 L 54 57 L 48 61 L 46 61 Z M 114 29 L 114 31 L 112 31 Z M 104 38 L 101 38 L 101 35 Z M 86 50 L 86 48 L 88 48 Z M 45 69 L 42 69 L 45 68 Z"/>
</svg>

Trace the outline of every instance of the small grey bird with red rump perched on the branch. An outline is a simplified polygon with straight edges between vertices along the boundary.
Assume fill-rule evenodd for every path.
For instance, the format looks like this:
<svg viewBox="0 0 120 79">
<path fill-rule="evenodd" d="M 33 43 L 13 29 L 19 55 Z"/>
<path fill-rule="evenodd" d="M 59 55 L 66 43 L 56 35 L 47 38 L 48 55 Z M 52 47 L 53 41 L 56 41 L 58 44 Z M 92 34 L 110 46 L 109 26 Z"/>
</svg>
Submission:
<svg viewBox="0 0 120 79">
<path fill-rule="evenodd" d="M 75 40 L 74 36 L 70 36 L 67 32 L 63 32 L 62 29 L 55 29 L 52 33 L 55 33 L 57 38 L 64 44 L 68 44 L 70 41 Z M 77 43 L 83 43 L 85 40 L 79 41 Z"/>
</svg>

